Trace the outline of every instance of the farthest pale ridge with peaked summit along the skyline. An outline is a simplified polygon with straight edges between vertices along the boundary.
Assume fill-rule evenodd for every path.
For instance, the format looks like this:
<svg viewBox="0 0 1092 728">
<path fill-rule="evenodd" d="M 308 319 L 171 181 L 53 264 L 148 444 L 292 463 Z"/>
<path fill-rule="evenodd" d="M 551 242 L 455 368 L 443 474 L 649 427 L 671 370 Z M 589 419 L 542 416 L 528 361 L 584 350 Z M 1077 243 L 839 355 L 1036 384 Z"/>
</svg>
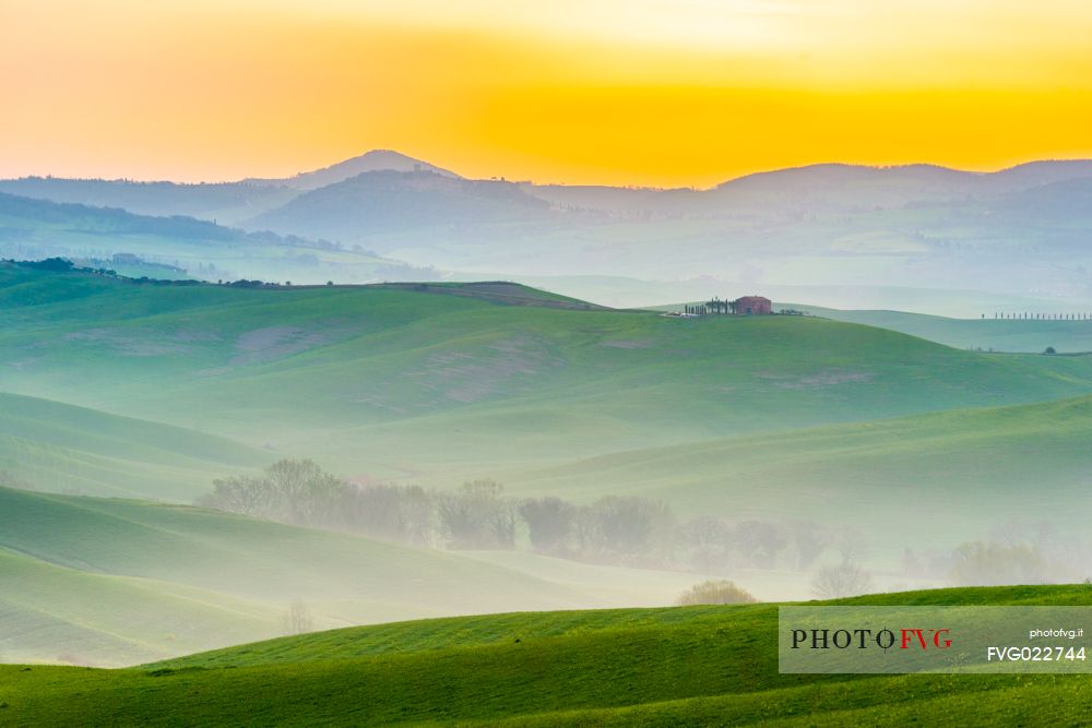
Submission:
<svg viewBox="0 0 1092 728">
<path fill-rule="evenodd" d="M 223 218 L 228 224 L 245 224 L 253 229 L 265 220 L 290 217 L 287 211 L 298 206 L 294 203 L 301 195 L 375 172 L 384 175 L 372 179 L 385 179 L 388 183 L 396 179 L 391 176 L 392 172 L 417 175 L 417 183 L 407 184 L 410 189 L 403 190 L 407 194 L 420 192 L 425 187 L 420 184 L 420 180 L 427 179 L 420 176 L 431 174 L 447 180 L 464 181 L 467 190 L 511 186 L 530 198 L 562 210 L 637 217 L 704 217 L 747 214 L 771 207 L 783 211 L 868 210 L 946 200 L 986 200 L 1034 187 L 1092 178 L 1092 159 L 1030 162 L 994 172 L 964 171 L 930 164 L 816 164 L 744 175 L 715 187 L 698 190 L 473 180 L 392 150 L 372 150 L 329 167 L 286 178 L 247 178 L 237 182 L 182 184 L 170 181 L 24 177 L 0 180 L 0 192 L 54 202 L 121 207 L 146 215 L 187 215 L 216 222 Z M 367 188 L 368 184 L 360 180 L 357 187 Z M 436 189 L 438 184 L 429 187 Z M 343 191 L 339 195 L 345 196 Z M 464 196 L 468 207 L 463 216 L 473 216 L 476 195 L 470 193 Z M 509 195 L 513 201 L 520 196 Z M 311 204 L 313 202 L 308 203 Z M 416 206 L 418 212 L 428 214 L 427 205 L 424 208 Z M 526 208 L 529 205 L 521 201 L 519 206 Z M 337 212 L 341 214 L 341 211 Z M 301 234 L 314 235 L 310 230 Z"/>
</svg>

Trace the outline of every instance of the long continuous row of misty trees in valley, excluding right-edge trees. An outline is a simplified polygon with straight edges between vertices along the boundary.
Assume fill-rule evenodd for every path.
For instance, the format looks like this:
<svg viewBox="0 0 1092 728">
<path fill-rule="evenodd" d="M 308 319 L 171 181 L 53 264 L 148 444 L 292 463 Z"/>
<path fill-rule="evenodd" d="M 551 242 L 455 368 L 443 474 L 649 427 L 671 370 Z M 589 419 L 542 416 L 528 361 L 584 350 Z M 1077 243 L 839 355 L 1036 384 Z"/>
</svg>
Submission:
<svg viewBox="0 0 1092 728">
<path fill-rule="evenodd" d="M 835 538 L 810 522 L 732 523 L 714 516 L 679 522 L 669 506 L 645 498 L 607 496 L 587 504 L 556 497 L 517 499 L 492 480 L 466 482 L 453 491 L 355 485 L 311 461 L 282 460 L 260 476 L 213 485 L 202 505 L 423 547 L 525 547 L 568 559 L 705 573 L 807 570 L 828 547 L 846 558 L 859 551 L 851 536 Z"/>
</svg>

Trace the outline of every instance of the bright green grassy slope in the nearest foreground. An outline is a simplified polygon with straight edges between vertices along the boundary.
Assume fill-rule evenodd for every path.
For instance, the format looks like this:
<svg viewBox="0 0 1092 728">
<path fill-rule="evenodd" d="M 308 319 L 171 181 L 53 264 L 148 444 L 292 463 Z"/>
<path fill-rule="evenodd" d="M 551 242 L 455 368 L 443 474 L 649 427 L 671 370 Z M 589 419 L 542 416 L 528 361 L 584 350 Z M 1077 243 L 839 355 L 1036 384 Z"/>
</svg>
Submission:
<svg viewBox="0 0 1092 728">
<path fill-rule="evenodd" d="M 855 604 L 1088 605 L 1001 587 Z M 1078 725 L 1088 676 L 782 676 L 776 607 L 501 614 L 306 635 L 129 670 L 0 668 L 12 725 Z"/>
</svg>

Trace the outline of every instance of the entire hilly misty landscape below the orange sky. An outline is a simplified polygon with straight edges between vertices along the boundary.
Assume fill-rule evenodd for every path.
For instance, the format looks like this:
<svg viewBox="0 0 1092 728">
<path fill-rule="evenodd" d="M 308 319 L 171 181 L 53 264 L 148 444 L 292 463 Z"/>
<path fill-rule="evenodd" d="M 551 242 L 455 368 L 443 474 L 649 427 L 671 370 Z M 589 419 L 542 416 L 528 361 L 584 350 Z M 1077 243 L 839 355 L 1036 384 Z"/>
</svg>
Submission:
<svg viewBox="0 0 1092 728">
<path fill-rule="evenodd" d="M 1092 700 L 776 653 L 784 604 L 1089 604 L 1087 174 L 0 181 L 0 724 Z"/>
</svg>

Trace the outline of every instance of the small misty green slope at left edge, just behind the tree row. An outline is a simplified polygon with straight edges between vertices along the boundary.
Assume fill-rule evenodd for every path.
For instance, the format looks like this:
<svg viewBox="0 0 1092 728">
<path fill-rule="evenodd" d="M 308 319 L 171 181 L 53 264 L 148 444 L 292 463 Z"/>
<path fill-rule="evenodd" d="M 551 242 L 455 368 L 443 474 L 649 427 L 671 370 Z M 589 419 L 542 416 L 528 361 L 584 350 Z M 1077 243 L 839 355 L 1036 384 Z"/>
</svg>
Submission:
<svg viewBox="0 0 1092 728">
<path fill-rule="evenodd" d="M 95 409 L 0 393 L 0 472 L 51 491 L 190 501 L 273 455 Z"/>
</svg>

